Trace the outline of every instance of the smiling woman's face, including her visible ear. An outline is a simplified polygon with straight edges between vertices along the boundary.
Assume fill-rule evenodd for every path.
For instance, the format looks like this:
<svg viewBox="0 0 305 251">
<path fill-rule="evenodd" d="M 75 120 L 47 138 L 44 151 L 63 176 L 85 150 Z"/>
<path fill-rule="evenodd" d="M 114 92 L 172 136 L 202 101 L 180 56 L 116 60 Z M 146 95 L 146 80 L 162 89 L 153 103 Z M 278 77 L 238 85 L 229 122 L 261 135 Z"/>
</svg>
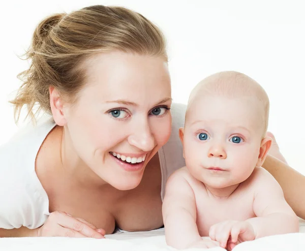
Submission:
<svg viewBox="0 0 305 251">
<path fill-rule="evenodd" d="M 85 165 L 116 189 L 133 189 L 170 136 L 167 63 L 162 57 L 115 51 L 85 65 L 79 99 L 64 108 L 65 129 Z"/>
</svg>

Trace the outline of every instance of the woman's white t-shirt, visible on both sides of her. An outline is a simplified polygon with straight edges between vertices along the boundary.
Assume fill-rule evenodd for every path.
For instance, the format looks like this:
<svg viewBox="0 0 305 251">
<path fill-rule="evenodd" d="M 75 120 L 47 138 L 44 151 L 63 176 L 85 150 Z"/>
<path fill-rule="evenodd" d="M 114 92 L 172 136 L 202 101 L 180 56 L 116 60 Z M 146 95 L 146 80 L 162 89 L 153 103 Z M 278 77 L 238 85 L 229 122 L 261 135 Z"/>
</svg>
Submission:
<svg viewBox="0 0 305 251">
<path fill-rule="evenodd" d="M 158 152 L 162 199 L 169 175 L 185 166 L 178 136 L 179 127 L 184 126 L 185 111 L 185 105 L 172 105 L 172 133 Z M 45 119 L 35 127 L 30 124 L 0 147 L 0 228 L 35 229 L 42 226 L 50 214 L 48 196 L 35 172 L 35 161 L 43 141 L 54 127 L 53 119 Z"/>
</svg>

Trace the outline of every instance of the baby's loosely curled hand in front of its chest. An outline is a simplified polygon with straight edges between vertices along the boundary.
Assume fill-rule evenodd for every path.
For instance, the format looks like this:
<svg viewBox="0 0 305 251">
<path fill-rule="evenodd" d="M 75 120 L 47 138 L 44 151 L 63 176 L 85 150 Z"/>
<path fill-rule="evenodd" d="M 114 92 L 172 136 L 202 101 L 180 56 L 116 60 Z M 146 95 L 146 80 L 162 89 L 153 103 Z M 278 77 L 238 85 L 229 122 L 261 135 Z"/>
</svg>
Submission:
<svg viewBox="0 0 305 251">
<path fill-rule="evenodd" d="M 255 239 L 252 225 L 247 221 L 225 221 L 210 227 L 209 237 L 220 246 L 232 250 L 238 243 Z"/>
</svg>

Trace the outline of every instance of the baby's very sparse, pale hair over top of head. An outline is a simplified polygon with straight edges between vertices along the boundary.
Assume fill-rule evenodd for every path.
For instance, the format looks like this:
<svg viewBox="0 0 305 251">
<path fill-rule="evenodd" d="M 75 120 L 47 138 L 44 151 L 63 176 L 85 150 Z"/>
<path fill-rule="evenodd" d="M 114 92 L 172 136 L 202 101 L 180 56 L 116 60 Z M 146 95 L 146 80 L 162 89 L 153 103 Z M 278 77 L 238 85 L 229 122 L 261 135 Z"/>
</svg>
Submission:
<svg viewBox="0 0 305 251">
<path fill-rule="evenodd" d="M 200 95 L 202 99 L 204 99 L 204 96 L 208 95 L 217 95 L 232 99 L 240 97 L 255 98 L 261 102 L 263 107 L 262 121 L 264 123 L 264 137 L 268 128 L 269 98 L 263 87 L 254 79 L 246 74 L 235 71 L 212 74 L 200 81 L 192 90 L 188 102 L 188 110 L 190 109 L 193 100 L 198 98 L 198 95 Z"/>
</svg>

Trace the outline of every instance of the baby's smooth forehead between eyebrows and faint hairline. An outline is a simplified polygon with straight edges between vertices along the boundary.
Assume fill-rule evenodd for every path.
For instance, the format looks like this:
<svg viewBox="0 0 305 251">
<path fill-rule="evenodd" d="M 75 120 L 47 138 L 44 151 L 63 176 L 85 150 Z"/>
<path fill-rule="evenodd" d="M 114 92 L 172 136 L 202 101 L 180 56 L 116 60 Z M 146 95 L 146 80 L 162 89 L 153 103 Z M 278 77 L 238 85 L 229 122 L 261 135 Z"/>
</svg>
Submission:
<svg viewBox="0 0 305 251">
<path fill-rule="evenodd" d="M 227 98 L 196 96 L 187 109 L 186 125 L 222 129 L 259 130 L 264 124 L 264 107 L 255 97 Z"/>
</svg>

